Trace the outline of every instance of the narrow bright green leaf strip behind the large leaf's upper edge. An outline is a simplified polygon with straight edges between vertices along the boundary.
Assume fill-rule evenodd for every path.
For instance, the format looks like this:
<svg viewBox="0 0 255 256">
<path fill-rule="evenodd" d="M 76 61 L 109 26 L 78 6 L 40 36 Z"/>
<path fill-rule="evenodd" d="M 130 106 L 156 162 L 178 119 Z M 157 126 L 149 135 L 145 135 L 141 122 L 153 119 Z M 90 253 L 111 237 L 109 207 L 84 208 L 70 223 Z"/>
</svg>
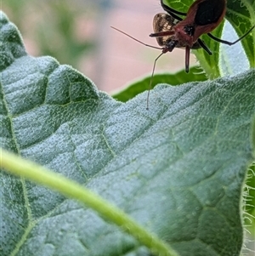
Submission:
<svg viewBox="0 0 255 256">
<path fill-rule="evenodd" d="M 168 83 L 171 85 L 179 85 L 184 82 L 191 81 L 205 81 L 207 80 L 207 76 L 201 69 L 197 67 L 190 68 L 190 73 L 186 73 L 185 71 L 179 71 L 175 74 L 156 74 L 151 82 L 151 88 L 154 88 L 158 83 Z M 120 100 L 122 102 L 126 102 L 127 100 L 132 99 L 137 94 L 140 94 L 146 90 L 148 90 L 150 86 L 150 77 L 144 77 L 143 79 L 133 82 L 124 88 L 119 93 L 114 94 L 112 97 L 116 100 Z"/>
</svg>

